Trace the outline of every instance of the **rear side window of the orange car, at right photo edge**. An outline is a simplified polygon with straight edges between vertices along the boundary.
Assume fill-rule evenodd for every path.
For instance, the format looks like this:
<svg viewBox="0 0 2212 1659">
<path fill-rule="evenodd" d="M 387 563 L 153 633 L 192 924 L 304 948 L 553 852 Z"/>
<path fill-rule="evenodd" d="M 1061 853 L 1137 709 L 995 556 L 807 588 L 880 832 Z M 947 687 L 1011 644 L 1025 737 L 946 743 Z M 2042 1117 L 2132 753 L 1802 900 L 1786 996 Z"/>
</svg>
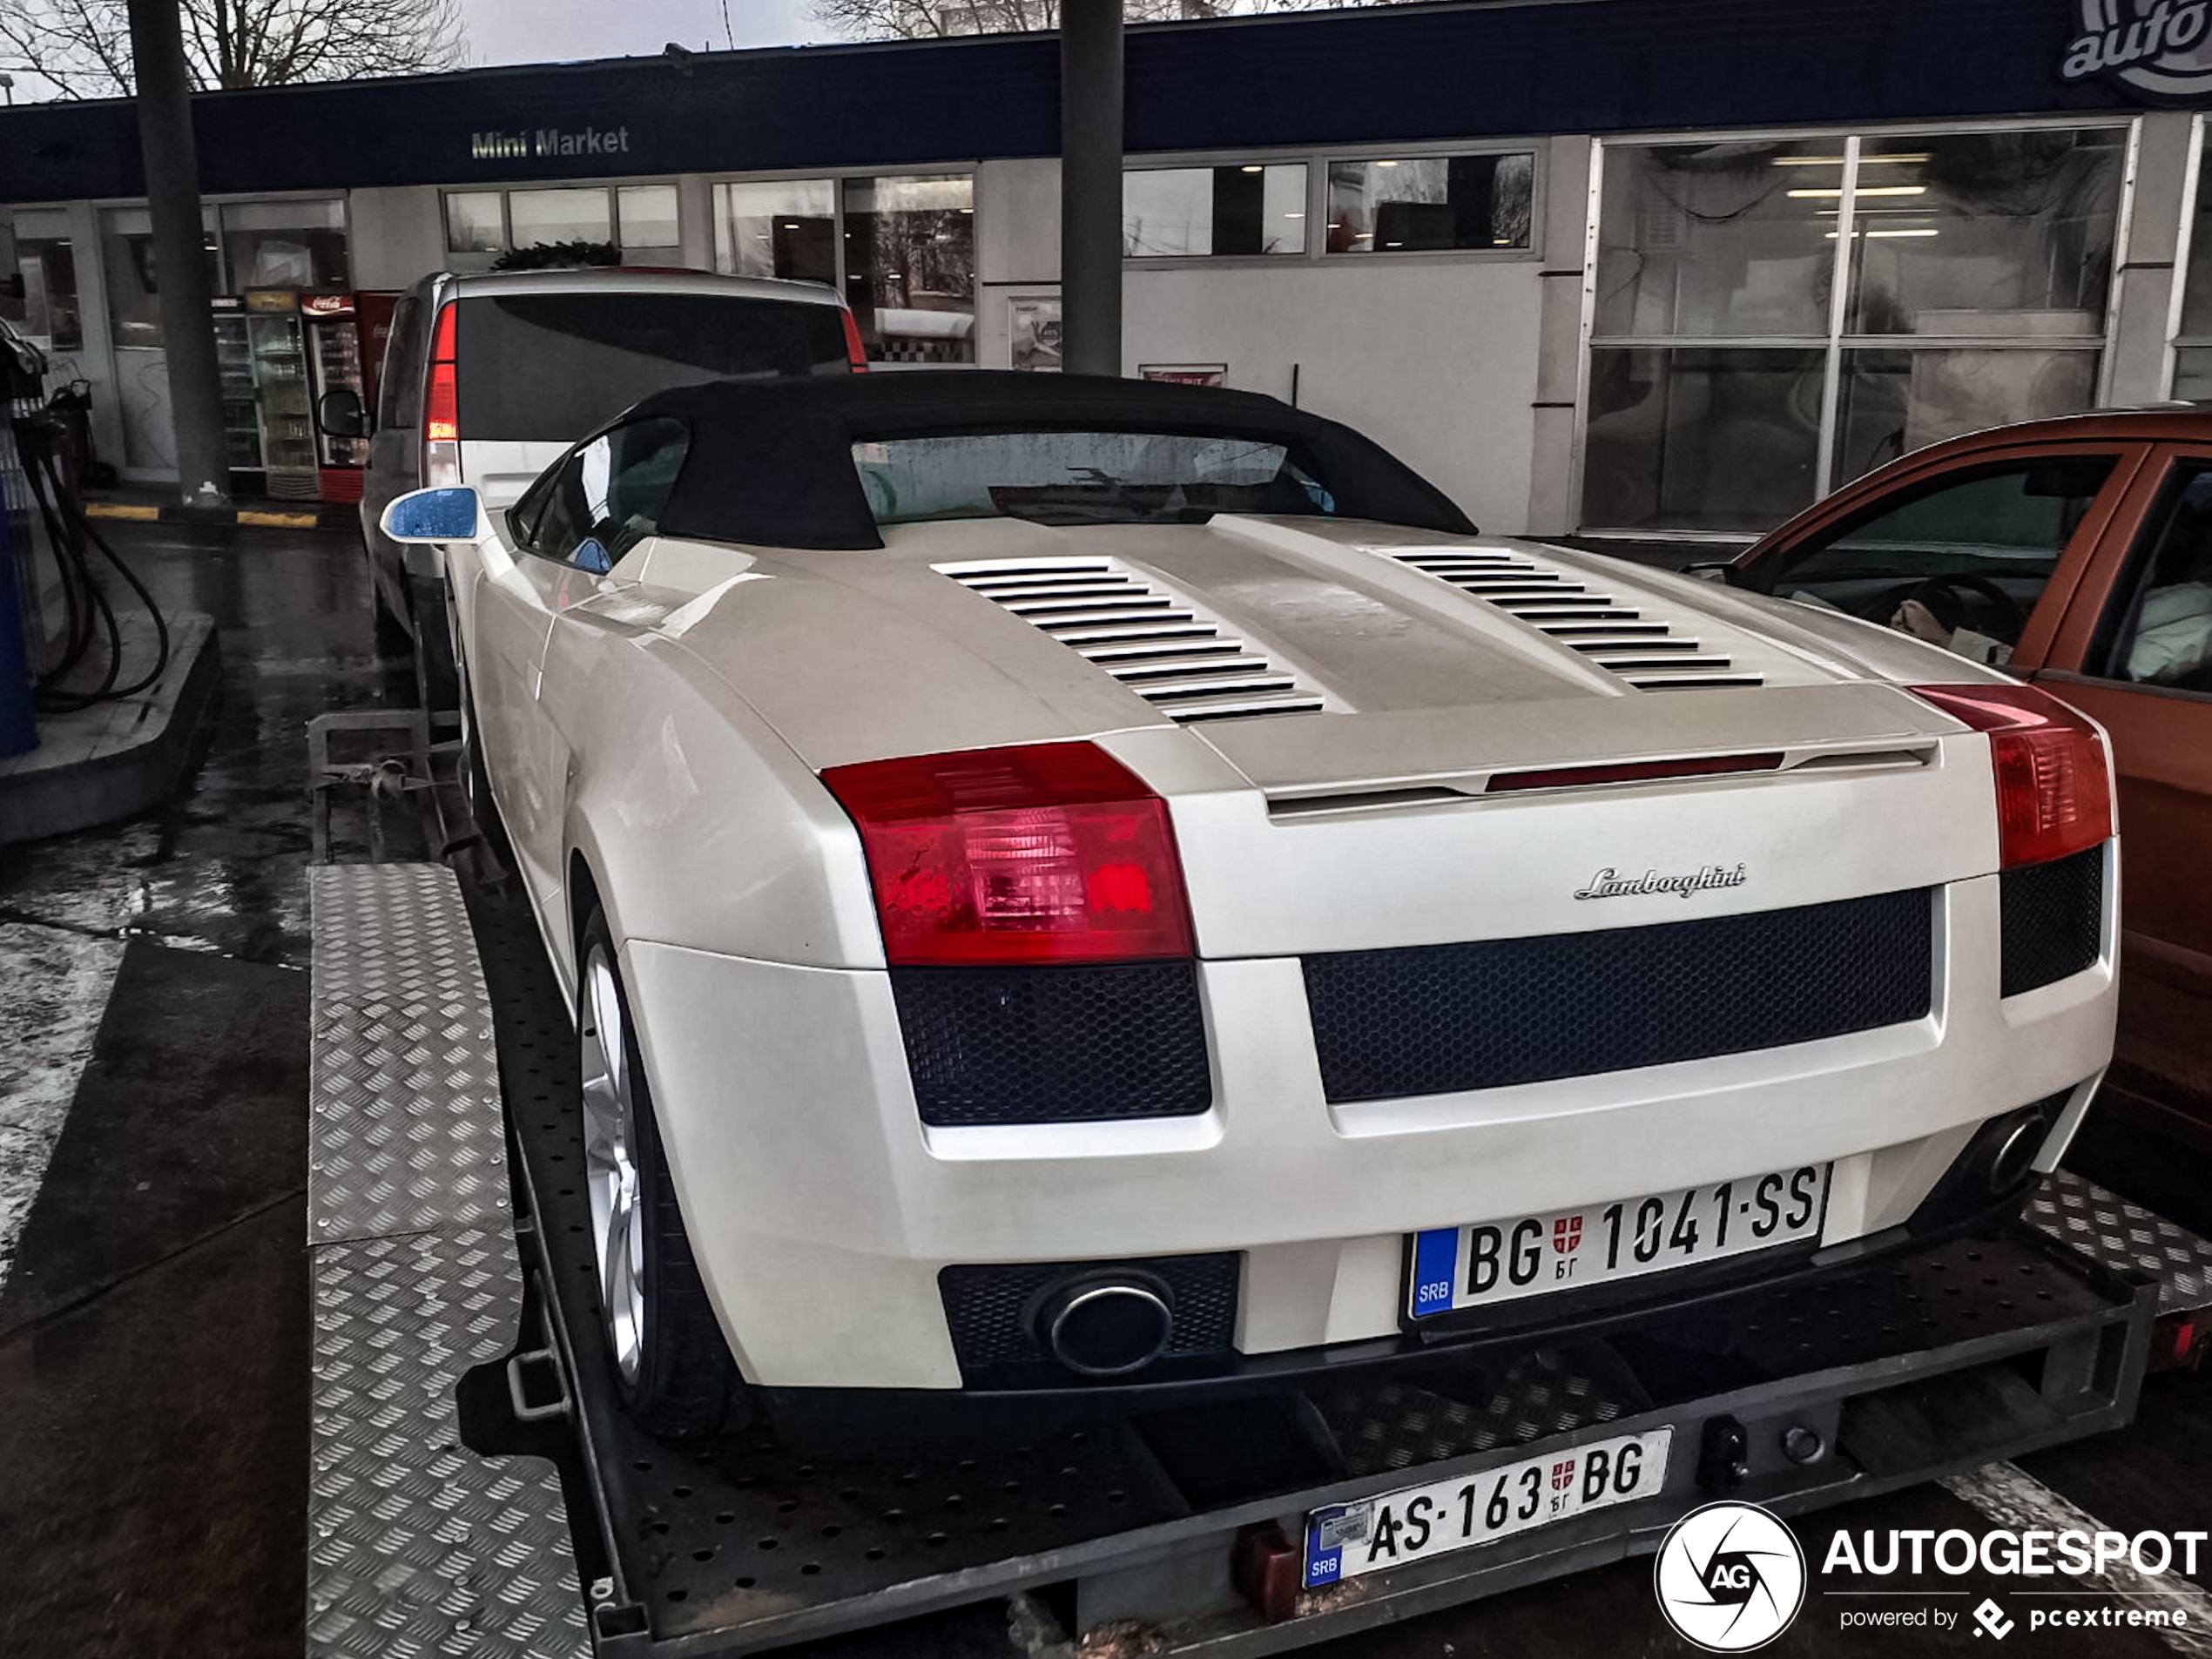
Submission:
<svg viewBox="0 0 2212 1659">
<path fill-rule="evenodd" d="M 2212 692 L 2212 462 L 2174 467 L 2088 661 L 2104 679 Z"/>
</svg>

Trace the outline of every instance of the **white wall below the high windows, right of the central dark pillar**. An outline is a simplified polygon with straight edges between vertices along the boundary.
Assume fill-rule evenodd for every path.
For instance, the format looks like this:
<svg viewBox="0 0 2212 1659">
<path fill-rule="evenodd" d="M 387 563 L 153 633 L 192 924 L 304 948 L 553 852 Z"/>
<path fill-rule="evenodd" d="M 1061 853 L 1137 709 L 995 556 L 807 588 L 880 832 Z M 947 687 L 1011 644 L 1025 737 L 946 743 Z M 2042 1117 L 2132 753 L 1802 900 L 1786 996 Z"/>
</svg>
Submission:
<svg viewBox="0 0 2212 1659">
<path fill-rule="evenodd" d="M 1537 263 L 1367 259 L 1146 270 L 1121 290 L 1121 361 L 1225 363 L 1239 392 L 1358 427 L 1489 531 L 1528 513 Z"/>
</svg>

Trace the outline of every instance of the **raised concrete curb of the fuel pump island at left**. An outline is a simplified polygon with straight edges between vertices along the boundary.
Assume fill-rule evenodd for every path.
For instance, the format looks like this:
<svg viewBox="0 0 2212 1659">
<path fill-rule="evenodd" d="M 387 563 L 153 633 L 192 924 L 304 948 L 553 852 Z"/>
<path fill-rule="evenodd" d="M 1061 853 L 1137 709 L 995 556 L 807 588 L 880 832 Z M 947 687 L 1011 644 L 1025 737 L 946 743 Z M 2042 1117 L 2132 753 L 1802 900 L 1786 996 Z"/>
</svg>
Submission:
<svg viewBox="0 0 2212 1659">
<path fill-rule="evenodd" d="M 199 761 L 219 684 L 215 622 L 170 617 L 168 670 L 155 686 L 75 714 L 42 714 L 38 748 L 0 761 L 0 843 L 88 830 L 166 801 Z"/>
</svg>

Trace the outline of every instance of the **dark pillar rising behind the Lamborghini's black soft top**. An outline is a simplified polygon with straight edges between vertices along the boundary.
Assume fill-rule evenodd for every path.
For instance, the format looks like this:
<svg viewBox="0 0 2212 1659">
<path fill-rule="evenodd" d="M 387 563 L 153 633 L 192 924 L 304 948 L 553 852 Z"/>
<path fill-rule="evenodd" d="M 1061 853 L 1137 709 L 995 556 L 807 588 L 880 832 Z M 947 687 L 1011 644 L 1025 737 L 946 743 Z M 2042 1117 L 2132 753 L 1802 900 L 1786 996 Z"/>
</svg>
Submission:
<svg viewBox="0 0 2212 1659">
<path fill-rule="evenodd" d="M 1060 4 L 1060 349 L 1121 374 L 1121 0 Z"/>
</svg>

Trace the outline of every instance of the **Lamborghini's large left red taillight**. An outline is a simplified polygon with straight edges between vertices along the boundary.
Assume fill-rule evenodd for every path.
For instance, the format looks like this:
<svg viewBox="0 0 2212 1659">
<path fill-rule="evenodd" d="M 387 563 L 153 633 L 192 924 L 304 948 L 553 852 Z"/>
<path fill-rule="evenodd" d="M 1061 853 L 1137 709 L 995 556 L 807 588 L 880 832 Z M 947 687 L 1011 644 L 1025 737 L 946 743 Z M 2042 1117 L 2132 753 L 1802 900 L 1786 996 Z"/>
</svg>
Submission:
<svg viewBox="0 0 2212 1659">
<path fill-rule="evenodd" d="M 1091 743 L 834 765 L 896 967 L 1190 956 L 1168 803 Z"/>
</svg>

